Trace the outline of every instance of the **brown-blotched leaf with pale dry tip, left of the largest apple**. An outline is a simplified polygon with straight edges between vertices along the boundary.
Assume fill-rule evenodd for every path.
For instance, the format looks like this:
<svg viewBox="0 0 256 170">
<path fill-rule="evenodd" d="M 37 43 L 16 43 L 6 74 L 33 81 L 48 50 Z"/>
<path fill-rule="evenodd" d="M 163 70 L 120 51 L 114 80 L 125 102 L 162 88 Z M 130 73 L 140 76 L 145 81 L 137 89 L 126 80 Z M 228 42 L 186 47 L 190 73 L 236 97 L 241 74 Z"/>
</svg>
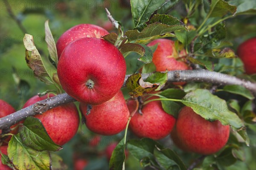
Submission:
<svg viewBox="0 0 256 170">
<path fill-rule="evenodd" d="M 47 72 L 44 66 L 42 58 L 35 47 L 33 36 L 25 34 L 23 38 L 23 43 L 26 48 L 26 62 L 29 68 L 34 71 L 35 77 L 39 78 L 41 81 L 45 82 L 47 85 L 53 84 L 51 76 Z M 31 51 L 31 54 L 30 52 Z"/>
</svg>

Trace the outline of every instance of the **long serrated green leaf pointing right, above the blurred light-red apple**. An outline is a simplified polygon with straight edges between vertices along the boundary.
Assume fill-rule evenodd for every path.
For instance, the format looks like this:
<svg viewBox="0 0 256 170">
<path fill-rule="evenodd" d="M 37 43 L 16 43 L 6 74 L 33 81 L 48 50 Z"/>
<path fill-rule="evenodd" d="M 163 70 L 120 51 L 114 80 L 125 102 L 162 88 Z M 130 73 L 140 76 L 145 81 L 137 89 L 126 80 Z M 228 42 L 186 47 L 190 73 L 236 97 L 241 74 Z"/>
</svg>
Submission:
<svg viewBox="0 0 256 170">
<path fill-rule="evenodd" d="M 152 22 L 155 21 L 155 23 L 149 24 L 147 27 L 143 29 L 143 31 L 138 31 L 138 30 L 126 31 L 125 36 L 127 36 L 128 41 L 144 40 L 154 36 L 170 33 L 172 31 L 186 29 L 186 26 L 184 26 L 184 24 L 175 17 L 172 17 L 170 15 L 163 16 L 159 14 L 154 16 L 152 17 L 151 21 Z M 164 23 L 159 23 L 158 21 L 162 21 Z"/>
</svg>

